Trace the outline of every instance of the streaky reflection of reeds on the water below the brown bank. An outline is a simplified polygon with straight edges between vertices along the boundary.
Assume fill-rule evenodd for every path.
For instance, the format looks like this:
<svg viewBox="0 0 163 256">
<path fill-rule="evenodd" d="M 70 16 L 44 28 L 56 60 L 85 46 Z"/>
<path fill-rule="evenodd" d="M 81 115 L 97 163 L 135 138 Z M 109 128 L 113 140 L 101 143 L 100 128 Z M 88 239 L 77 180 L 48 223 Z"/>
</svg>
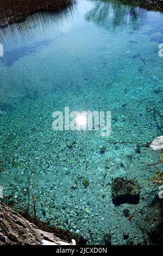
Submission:
<svg viewBox="0 0 163 256">
<path fill-rule="evenodd" d="M 3 27 L 3 29 L 0 26 L 0 38 L 4 51 L 9 52 L 15 48 L 22 47 L 27 50 L 29 44 L 32 47 L 32 45 L 36 46 L 41 41 L 48 40 L 50 42 L 57 39 L 64 33 L 66 26 L 73 19 L 76 6 L 75 3 L 70 4 L 60 11 L 55 11 L 55 13 L 53 11 L 51 14 L 46 12 L 36 13 L 28 16 L 21 23 L 13 22 L 10 26 Z M 60 28 L 60 32 L 58 28 Z M 5 57 L 7 57 L 7 53 L 5 53 Z M 4 59 L 6 60 L 7 58 Z M 4 59 L 1 58 L 1 62 Z"/>
</svg>

